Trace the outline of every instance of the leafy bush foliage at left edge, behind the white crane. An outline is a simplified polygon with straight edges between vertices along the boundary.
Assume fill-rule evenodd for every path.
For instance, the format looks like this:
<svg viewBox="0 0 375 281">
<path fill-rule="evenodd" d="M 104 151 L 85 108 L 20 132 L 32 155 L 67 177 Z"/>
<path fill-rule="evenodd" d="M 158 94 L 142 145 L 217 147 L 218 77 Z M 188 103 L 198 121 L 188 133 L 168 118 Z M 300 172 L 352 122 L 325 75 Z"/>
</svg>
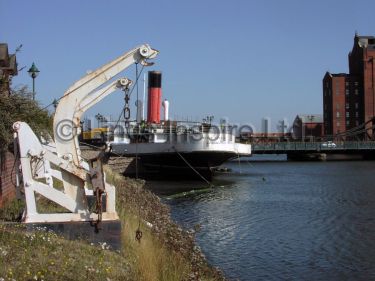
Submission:
<svg viewBox="0 0 375 281">
<path fill-rule="evenodd" d="M 12 94 L 0 94 L 0 153 L 8 150 L 13 143 L 13 123 L 26 122 L 39 135 L 52 132 L 52 117 L 47 110 L 31 99 L 27 87 L 13 90 Z"/>
</svg>

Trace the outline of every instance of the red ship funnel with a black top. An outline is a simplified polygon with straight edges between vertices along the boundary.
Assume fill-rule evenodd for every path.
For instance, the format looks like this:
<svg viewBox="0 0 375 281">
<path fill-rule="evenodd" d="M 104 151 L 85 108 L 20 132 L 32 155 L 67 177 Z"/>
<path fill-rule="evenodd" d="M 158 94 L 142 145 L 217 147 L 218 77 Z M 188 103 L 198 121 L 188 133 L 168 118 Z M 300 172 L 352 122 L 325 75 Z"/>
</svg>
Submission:
<svg viewBox="0 0 375 281">
<path fill-rule="evenodd" d="M 148 72 L 147 122 L 160 123 L 161 72 Z"/>
</svg>

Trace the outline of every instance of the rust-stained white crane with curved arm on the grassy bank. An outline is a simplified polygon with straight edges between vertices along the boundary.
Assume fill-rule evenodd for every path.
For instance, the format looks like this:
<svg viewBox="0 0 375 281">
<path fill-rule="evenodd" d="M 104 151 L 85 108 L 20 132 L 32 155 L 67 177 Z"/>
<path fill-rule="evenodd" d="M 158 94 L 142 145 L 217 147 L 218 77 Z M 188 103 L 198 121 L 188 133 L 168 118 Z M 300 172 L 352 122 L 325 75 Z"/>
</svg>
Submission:
<svg viewBox="0 0 375 281">
<path fill-rule="evenodd" d="M 105 180 L 100 160 L 96 166 L 81 158 L 78 142 L 82 114 L 117 89 L 130 86 L 127 78 L 110 80 L 134 63 L 148 66 L 158 51 L 144 44 L 87 74 L 74 83 L 60 99 L 53 120 L 54 141 L 42 142 L 24 122 L 13 125 L 15 149 L 19 154 L 25 188 L 25 223 L 117 220 L 115 187 Z M 109 84 L 108 84 L 109 83 Z M 21 175 L 18 175 L 21 176 Z M 64 190 L 53 180 L 63 182 Z M 35 193 L 64 207 L 66 213 L 38 213 Z M 97 204 L 105 195 L 106 208 L 92 212 L 88 196 L 96 195 Z M 98 206 L 97 206 L 98 207 Z"/>
</svg>

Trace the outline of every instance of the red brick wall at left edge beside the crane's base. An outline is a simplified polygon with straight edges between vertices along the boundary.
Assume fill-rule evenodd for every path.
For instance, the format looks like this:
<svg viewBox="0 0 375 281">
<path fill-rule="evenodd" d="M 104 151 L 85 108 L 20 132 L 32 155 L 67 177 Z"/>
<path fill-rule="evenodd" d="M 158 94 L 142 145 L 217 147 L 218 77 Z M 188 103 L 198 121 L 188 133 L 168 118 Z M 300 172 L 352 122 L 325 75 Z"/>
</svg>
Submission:
<svg viewBox="0 0 375 281">
<path fill-rule="evenodd" d="M 9 199 L 16 196 L 16 188 L 14 186 L 16 177 L 14 167 L 14 156 L 12 153 L 7 152 L 0 163 L 0 207 Z M 13 175 L 12 175 L 13 174 Z"/>
</svg>

